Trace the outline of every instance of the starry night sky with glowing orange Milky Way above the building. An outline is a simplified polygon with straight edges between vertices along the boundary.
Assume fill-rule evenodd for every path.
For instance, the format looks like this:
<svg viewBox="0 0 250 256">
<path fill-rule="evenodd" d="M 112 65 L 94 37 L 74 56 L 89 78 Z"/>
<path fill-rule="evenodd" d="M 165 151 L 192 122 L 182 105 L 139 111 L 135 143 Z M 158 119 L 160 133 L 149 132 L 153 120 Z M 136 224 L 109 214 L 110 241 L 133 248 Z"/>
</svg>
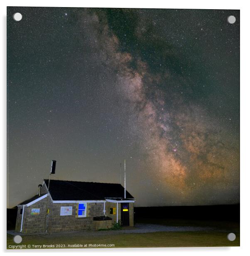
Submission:
<svg viewBox="0 0 250 256">
<path fill-rule="evenodd" d="M 111 183 L 126 159 L 136 206 L 239 203 L 239 35 L 239 10 L 8 7 L 8 207 L 52 159 Z"/>
</svg>

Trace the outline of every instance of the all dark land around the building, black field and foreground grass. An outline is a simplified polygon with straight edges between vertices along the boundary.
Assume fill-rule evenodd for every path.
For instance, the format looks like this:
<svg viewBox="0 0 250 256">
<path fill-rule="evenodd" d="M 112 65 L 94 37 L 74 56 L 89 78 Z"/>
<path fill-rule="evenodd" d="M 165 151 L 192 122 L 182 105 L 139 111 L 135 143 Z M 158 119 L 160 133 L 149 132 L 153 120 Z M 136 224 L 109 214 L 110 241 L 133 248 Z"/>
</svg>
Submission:
<svg viewBox="0 0 250 256">
<path fill-rule="evenodd" d="M 15 229 L 15 217 L 16 209 L 7 209 L 7 229 Z M 23 236 L 22 244 L 51 244 L 52 237 L 52 244 L 112 243 L 115 247 L 240 246 L 240 204 L 135 207 L 135 227 L 132 229 L 140 229 L 142 224 L 168 226 L 171 231 L 131 234 L 133 230 L 123 228 L 116 232 L 108 230 L 73 232 L 70 237 L 64 233 L 34 234 Z M 189 231 L 179 231 L 180 228 L 183 230 L 188 228 Z M 230 232 L 236 234 L 233 242 L 226 238 Z M 9 244 L 13 244 L 11 234 L 7 234 L 7 246 Z"/>
</svg>

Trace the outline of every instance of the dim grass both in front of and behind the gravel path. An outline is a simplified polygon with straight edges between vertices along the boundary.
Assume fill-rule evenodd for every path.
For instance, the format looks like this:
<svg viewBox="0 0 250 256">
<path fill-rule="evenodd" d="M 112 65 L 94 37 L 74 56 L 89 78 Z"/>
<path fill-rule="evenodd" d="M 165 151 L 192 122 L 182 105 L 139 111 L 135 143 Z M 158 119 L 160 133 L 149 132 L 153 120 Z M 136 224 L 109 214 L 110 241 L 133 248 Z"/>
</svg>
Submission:
<svg viewBox="0 0 250 256">
<path fill-rule="evenodd" d="M 212 226 L 227 232 L 154 232 L 144 234 L 115 234 L 86 236 L 86 233 L 61 233 L 51 235 L 26 235 L 22 236 L 19 245 L 54 245 L 49 248 L 72 248 L 69 245 L 82 244 L 83 248 L 91 248 L 89 245 L 114 244 L 115 248 L 124 247 L 198 247 L 198 246 L 240 246 L 240 223 L 239 222 L 216 222 L 180 219 L 137 219 L 137 223 L 162 224 L 167 226 Z M 102 231 L 103 232 L 103 231 Z M 105 232 L 105 231 L 104 231 Z M 227 234 L 236 234 L 235 241 L 228 241 Z M 7 249 L 17 245 L 13 242 L 13 236 L 7 234 Z M 59 245 L 57 247 L 56 245 Z M 113 247 L 113 246 L 112 246 Z M 74 247 L 73 248 L 78 248 Z M 96 248 L 96 247 L 94 247 Z M 36 249 L 39 249 L 37 247 Z"/>
</svg>

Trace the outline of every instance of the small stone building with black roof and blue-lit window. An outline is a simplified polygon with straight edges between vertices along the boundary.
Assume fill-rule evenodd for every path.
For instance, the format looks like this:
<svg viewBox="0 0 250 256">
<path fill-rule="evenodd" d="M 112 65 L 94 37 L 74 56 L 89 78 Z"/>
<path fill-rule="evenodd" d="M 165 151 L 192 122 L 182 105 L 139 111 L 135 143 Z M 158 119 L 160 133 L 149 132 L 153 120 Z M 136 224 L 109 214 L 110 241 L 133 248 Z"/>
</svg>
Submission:
<svg viewBox="0 0 250 256">
<path fill-rule="evenodd" d="M 49 191 L 48 191 L 49 184 Z M 44 180 L 39 194 L 17 205 L 16 231 L 56 233 L 134 225 L 135 198 L 120 184 Z"/>
</svg>

